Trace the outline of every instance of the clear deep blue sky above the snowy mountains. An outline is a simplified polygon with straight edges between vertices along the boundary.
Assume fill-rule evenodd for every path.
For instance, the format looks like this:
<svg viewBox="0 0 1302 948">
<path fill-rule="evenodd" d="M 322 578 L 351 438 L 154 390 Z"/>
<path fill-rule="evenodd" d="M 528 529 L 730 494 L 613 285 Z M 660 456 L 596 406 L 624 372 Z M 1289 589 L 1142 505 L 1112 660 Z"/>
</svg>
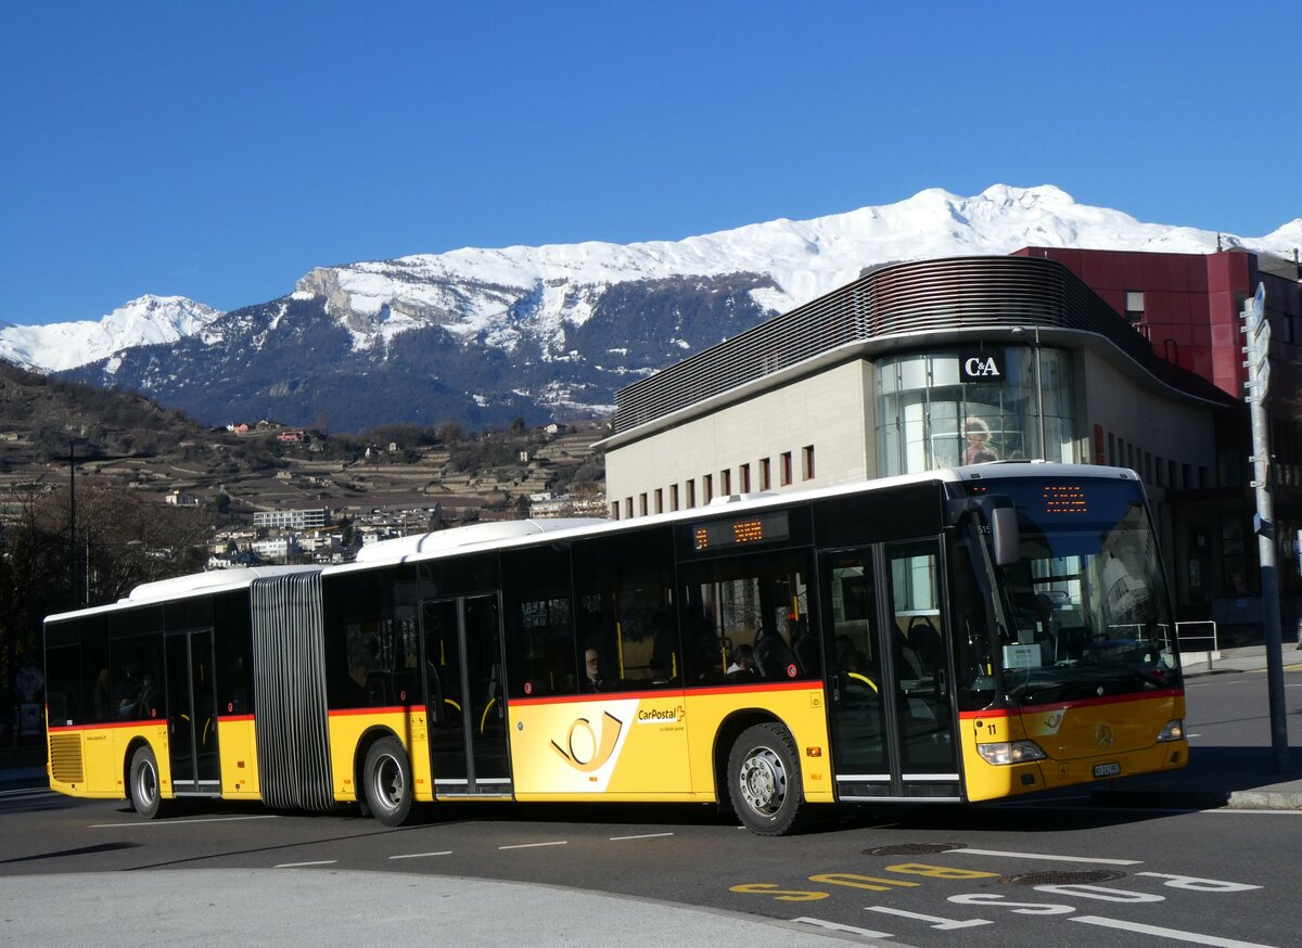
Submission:
<svg viewBox="0 0 1302 948">
<path fill-rule="evenodd" d="M 1302 216 L 1302 4 L 0 0 L 0 319 L 992 184 Z"/>
</svg>

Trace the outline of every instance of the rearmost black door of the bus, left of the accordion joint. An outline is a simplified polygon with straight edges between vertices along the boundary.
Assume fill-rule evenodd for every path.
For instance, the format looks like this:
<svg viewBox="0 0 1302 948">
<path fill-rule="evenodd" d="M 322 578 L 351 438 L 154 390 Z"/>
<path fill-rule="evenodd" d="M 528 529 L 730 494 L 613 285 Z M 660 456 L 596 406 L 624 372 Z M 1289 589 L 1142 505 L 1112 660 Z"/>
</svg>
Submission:
<svg viewBox="0 0 1302 948">
<path fill-rule="evenodd" d="M 212 680 L 212 629 L 167 637 L 167 732 L 172 789 L 177 796 L 221 792 L 217 701 Z M 148 690 L 146 684 L 145 690 Z M 141 701 L 161 702 L 161 694 Z M 152 716 L 151 708 L 143 711 Z"/>
</svg>

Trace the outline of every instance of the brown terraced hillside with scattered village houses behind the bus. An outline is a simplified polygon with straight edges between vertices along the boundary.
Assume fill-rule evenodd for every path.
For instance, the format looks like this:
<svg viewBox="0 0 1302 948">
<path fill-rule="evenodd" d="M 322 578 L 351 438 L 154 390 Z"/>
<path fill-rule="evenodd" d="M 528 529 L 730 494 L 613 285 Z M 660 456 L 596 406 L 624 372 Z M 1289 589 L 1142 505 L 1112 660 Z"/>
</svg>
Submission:
<svg viewBox="0 0 1302 948">
<path fill-rule="evenodd" d="M 486 520 L 605 512 L 583 421 L 469 432 L 384 426 L 329 435 L 273 421 L 206 430 L 141 396 L 0 369 L 0 516 L 23 497 L 125 491 L 201 510 L 215 525 L 211 569 L 340 563 L 367 543 Z M 96 537 L 112 546 L 130 538 Z"/>
</svg>

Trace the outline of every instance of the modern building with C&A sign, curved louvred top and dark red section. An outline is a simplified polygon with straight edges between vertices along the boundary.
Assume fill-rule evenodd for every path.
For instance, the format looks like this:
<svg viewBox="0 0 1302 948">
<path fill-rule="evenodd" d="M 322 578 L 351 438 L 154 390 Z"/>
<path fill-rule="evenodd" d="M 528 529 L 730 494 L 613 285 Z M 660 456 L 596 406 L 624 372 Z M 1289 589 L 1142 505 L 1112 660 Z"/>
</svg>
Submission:
<svg viewBox="0 0 1302 948">
<path fill-rule="evenodd" d="M 602 443 L 609 516 L 991 460 L 1113 464 L 1148 488 L 1180 617 L 1250 629 L 1259 600 L 1240 311 L 1258 283 L 1273 332 L 1292 621 L 1302 270 L 1240 250 L 1026 247 L 868 272 L 622 389 Z"/>
</svg>

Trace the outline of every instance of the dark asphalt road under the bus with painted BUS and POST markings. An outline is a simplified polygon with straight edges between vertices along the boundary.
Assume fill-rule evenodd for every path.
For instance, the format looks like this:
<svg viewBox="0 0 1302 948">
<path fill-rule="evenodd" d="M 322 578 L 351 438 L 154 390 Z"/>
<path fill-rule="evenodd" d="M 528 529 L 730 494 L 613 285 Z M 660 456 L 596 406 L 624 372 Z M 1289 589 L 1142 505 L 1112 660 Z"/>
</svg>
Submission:
<svg viewBox="0 0 1302 948">
<path fill-rule="evenodd" d="M 1302 676 L 1288 685 L 1295 732 Z M 1190 681 L 1195 753 L 1200 741 L 1267 747 L 1264 694 L 1262 675 Z M 1299 820 L 1302 811 L 1126 810 L 1082 793 L 878 807 L 773 840 L 713 807 L 447 806 L 385 830 L 346 811 L 233 805 L 142 822 L 125 803 L 18 792 L 0 796 L 0 875 L 48 874 L 59 887 L 68 872 L 391 872 L 418 901 L 409 883 L 421 876 L 514 880 L 805 919 L 811 931 L 906 945 L 1284 948 L 1302 944 Z M 203 904 L 202 889 L 177 892 Z M 69 900 L 86 897 L 69 885 Z M 518 940 L 527 922 L 504 906 L 501 931 Z"/>
</svg>

